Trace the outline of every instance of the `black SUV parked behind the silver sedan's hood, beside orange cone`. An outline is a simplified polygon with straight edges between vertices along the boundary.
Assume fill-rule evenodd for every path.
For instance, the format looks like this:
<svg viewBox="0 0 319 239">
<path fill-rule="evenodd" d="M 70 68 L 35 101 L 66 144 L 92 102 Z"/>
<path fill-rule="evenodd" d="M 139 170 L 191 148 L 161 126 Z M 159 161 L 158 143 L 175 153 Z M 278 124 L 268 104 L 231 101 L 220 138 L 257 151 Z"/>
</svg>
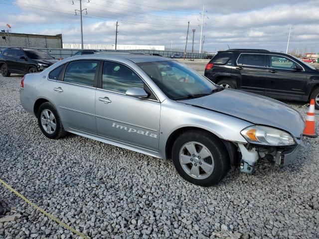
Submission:
<svg viewBox="0 0 319 239">
<path fill-rule="evenodd" d="M 298 58 L 261 49 L 219 51 L 205 76 L 225 88 L 283 99 L 315 99 L 319 109 L 319 71 Z"/>
</svg>

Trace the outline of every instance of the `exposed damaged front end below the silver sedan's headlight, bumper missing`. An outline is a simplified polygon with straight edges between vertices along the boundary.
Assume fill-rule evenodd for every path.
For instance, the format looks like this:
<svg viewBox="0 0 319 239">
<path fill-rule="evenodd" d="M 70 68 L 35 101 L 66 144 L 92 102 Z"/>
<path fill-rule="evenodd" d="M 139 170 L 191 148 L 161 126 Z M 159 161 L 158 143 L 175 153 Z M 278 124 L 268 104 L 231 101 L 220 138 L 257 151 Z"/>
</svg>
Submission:
<svg viewBox="0 0 319 239">
<path fill-rule="evenodd" d="M 240 151 L 240 171 L 252 174 L 256 165 L 289 165 L 299 153 L 302 141 L 289 146 L 261 146 L 238 143 Z"/>
</svg>

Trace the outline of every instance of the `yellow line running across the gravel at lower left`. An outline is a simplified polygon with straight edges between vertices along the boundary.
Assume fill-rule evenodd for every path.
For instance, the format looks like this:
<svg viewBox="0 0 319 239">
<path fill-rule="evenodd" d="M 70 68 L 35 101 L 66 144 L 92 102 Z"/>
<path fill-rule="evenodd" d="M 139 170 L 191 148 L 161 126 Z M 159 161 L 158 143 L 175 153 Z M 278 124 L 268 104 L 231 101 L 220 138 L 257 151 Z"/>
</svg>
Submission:
<svg viewBox="0 0 319 239">
<path fill-rule="evenodd" d="M 16 196 L 18 196 L 19 198 L 23 199 L 27 204 L 29 204 L 31 207 L 39 210 L 41 213 L 43 213 L 45 216 L 47 216 L 49 219 L 51 219 L 52 221 L 56 222 L 57 224 L 61 225 L 62 227 L 66 228 L 67 230 L 70 230 L 72 233 L 82 237 L 83 239 L 88 239 L 87 236 L 85 236 L 83 233 L 80 233 L 78 231 L 76 231 L 74 228 L 71 228 L 70 226 L 66 225 L 65 223 L 61 222 L 59 219 L 57 219 L 56 217 L 54 217 L 52 214 L 49 214 L 47 212 L 45 212 L 42 208 L 38 207 L 37 205 L 35 205 L 34 203 L 32 203 L 30 200 L 28 200 L 26 197 L 24 197 L 22 194 L 20 194 L 19 192 L 17 192 L 16 190 L 14 190 L 10 185 L 8 185 L 7 183 L 5 183 L 2 179 L 0 179 L 0 183 L 7 188 L 9 191 L 11 191 L 12 193 L 14 193 Z"/>
</svg>

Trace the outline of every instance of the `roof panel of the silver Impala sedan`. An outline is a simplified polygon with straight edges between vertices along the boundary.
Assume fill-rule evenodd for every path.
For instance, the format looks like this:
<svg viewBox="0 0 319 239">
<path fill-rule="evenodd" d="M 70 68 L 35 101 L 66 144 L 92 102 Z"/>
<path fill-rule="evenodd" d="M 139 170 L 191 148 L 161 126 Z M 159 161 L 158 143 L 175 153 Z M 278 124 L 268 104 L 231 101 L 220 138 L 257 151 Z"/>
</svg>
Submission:
<svg viewBox="0 0 319 239">
<path fill-rule="evenodd" d="M 151 61 L 172 61 L 172 59 L 162 57 L 162 56 L 123 54 L 123 53 L 120 53 L 120 54 L 119 53 L 103 53 L 103 54 L 92 54 L 92 55 L 82 55 L 82 56 L 72 56 L 72 57 L 74 57 L 74 59 L 97 59 L 97 58 L 101 60 L 126 59 L 134 63 L 151 62 Z"/>
</svg>

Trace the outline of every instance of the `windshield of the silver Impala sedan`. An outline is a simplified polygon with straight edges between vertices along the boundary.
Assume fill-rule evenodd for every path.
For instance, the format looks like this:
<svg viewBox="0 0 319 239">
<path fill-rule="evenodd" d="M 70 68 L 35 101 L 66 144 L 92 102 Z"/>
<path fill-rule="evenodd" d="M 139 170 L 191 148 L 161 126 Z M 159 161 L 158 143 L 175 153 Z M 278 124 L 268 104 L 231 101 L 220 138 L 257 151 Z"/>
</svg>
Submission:
<svg viewBox="0 0 319 239">
<path fill-rule="evenodd" d="M 211 94 L 217 86 L 176 61 L 141 62 L 137 65 L 172 100 Z"/>
</svg>

